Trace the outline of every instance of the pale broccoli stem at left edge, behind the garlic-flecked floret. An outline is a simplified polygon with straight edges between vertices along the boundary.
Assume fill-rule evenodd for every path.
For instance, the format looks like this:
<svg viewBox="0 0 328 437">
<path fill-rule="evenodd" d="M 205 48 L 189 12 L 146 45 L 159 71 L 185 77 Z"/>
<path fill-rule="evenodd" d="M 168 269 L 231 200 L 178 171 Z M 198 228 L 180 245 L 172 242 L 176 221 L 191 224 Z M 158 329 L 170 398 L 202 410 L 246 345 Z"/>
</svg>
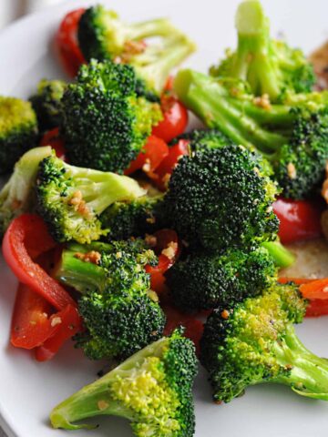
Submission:
<svg viewBox="0 0 328 437">
<path fill-rule="evenodd" d="M 12 219 L 35 207 L 33 188 L 38 166 L 50 155 L 51 147 L 36 147 L 15 163 L 13 174 L 0 191 L 0 239 Z"/>
</svg>

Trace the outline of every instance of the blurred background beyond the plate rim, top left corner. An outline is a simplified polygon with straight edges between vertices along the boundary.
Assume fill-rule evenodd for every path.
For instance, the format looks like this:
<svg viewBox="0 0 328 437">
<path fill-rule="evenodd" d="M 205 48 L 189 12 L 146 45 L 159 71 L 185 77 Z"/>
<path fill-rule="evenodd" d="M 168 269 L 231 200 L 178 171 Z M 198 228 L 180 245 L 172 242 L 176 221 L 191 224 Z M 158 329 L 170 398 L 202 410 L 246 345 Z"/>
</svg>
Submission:
<svg viewBox="0 0 328 437">
<path fill-rule="evenodd" d="M 20 16 L 63 0 L 0 0 L 0 30 Z"/>
</svg>

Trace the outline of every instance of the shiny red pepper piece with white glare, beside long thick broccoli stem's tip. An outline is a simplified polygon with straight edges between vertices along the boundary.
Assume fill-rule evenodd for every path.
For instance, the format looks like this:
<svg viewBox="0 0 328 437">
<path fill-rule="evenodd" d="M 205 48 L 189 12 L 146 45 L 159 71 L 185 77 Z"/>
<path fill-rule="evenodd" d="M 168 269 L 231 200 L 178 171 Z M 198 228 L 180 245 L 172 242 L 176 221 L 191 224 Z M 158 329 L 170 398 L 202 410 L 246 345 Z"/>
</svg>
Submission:
<svg viewBox="0 0 328 437">
<path fill-rule="evenodd" d="M 169 82 L 168 82 L 168 86 Z M 170 93 L 164 93 L 160 99 L 163 119 L 153 127 L 152 134 L 163 138 L 167 143 L 183 134 L 188 125 L 188 111 L 179 100 Z"/>
</svg>

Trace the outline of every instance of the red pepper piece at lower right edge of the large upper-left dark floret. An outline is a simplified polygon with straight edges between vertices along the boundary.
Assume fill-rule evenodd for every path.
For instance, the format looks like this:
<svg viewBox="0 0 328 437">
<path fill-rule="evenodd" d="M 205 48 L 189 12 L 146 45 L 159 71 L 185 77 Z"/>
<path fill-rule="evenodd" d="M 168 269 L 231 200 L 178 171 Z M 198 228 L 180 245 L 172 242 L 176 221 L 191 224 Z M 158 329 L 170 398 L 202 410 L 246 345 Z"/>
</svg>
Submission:
<svg viewBox="0 0 328 437">
<path fill-rule="evenodd" d="M 138 157 L 132 161 L 125 170 L 125 175 L 130 175 L 142 169 L 150 178 L 154 178 L 154 170 L 164 158 L 169 155 L 169 147 L 161 138 L 151 135 Z M 157 177 L 155 177 L 157 178 Z"/>
</svg>

